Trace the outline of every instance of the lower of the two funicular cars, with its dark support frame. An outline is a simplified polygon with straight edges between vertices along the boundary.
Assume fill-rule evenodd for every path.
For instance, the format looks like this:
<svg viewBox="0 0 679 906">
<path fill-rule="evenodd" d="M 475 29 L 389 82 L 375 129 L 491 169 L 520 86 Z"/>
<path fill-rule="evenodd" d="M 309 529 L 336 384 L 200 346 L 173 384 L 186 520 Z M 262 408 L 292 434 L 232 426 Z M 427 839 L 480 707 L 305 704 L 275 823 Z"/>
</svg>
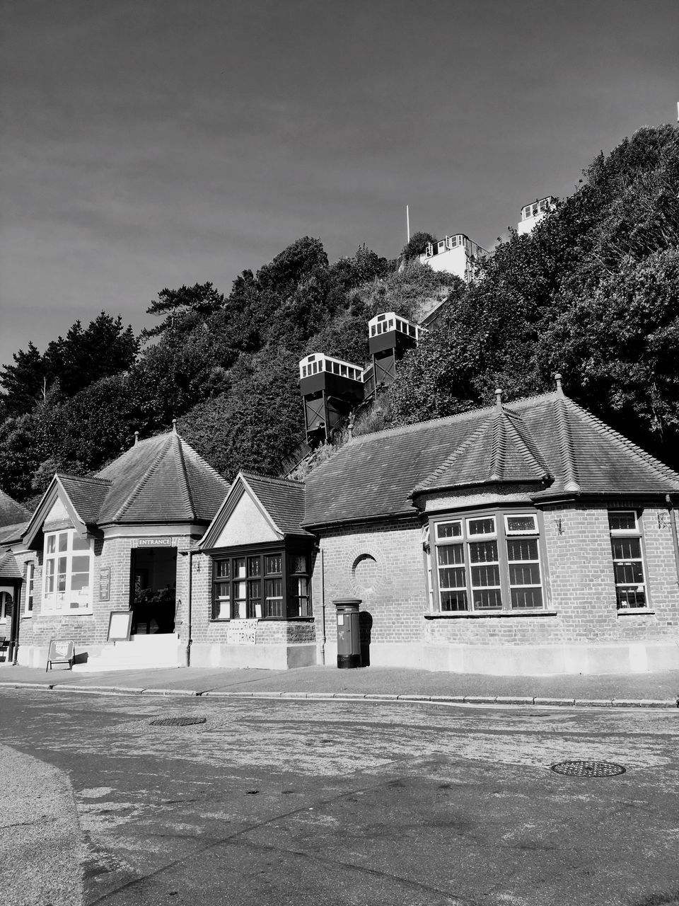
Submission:
<svg viewBox="0 0 679 906">
<path fill-rule="evenodd" d="M 311 447 L 330 438 L 333 429 L 364 399 L 364 370 L 351 361 L 311 352 L 300 361 L 304 427 Z"/>
</svg>

